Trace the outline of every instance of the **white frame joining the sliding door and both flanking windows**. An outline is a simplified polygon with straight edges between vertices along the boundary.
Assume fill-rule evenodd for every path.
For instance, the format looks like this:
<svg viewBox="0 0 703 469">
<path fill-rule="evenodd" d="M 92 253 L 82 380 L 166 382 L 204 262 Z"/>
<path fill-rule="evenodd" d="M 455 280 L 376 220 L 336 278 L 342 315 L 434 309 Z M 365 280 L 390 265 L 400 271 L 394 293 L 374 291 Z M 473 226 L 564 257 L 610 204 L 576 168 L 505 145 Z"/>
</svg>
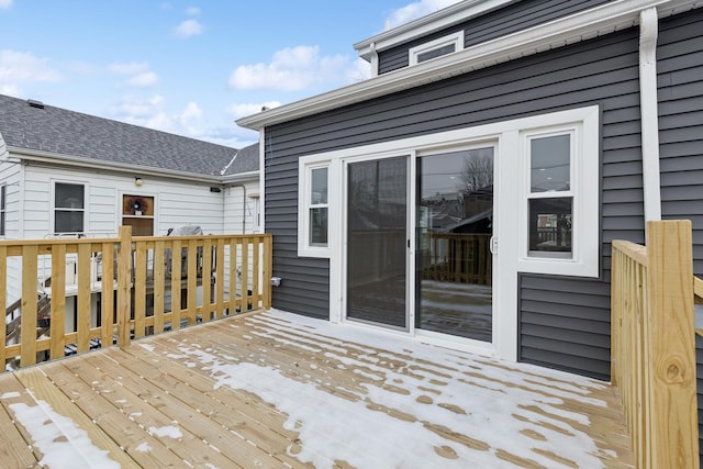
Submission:
<svg viewBox="0 0 703 469">
<path fill-rule="evenodd" d="M 527 256 L 527 215 L 525 213 L 525 190 L 528 178 L 528 161 L 525 158 L 525 135 L 554 131 L 555 129 L 578 127 L 579 141 L 574 142 L 579 152 L 574 155 L 570 181 L 574 185 L 573 211 L 578 220 L 573 224 L 573 256 L 571 259 L 535 258 Z M 344 321 L 345 291 L 345 246 L 344 224 L 344 161 L 355 158 L 381 158 L 399 154 L 422 155 L 428 152 L 451 149 L 458 146 L 495 145 L 495 185 L 493 236 L 495 255 L 499 261 L 493 266 L 494 292 L 493 308 L 500 311 L 493 330 L 492 347 L 480 349 L 498 357 L 516 360 L 517 358 L 517 273 L 537 272 L 548 275 L 599 277 L 600 275 L 600 108 L 585 108 L 556 111 L 528 118 L 511 119 L 483 125 L 469 126 L 434 134 L 400 138 L 358 147 L 331 150 L 311 155 L 299 160 L 299 219 L 298 255 L 300 257 L 325 257 L 330 259 L 330 321 Z M 308 239 L 309 193 L 308 169 L 315 165 L 328 165 L 328 247 L 311 249 L 305 246 Z M 411 180 L 415 180 L 412 172 Z M 516 168 L 518 170 L 516 170 Z M 411 185 L 411 200 L 414 200 Z M 510 189 L 509 189 L 510 188 Z M 524 203 L 524 205 L 523 205 Z M 411 210 L 410 225 L 414 226 L 414 210 Z M 577 224 L 578 223 L 578 224 Z M 413 230 L 410 231 L 411 246 L 414 246 Z M 414 256 L 411 247 L 411 263 Z M 412 304 L 410 304 L 412 308 Z M 412 321 L 411 321 L 412 322 Z M 412 334 L 416 331 L 411 330 Z M 423 340 L 429 342 L 423 336 Z M 444 346 L 449 346 L 444 343 Z M 451 345 L 462 348 L 462 345 Z M 471 347 L 468 347 L 469 349 Z M 476 348 L 476 347 L 475 347 Z M 479 351 L 477 348 L 475 351 Z"/>
</svg>

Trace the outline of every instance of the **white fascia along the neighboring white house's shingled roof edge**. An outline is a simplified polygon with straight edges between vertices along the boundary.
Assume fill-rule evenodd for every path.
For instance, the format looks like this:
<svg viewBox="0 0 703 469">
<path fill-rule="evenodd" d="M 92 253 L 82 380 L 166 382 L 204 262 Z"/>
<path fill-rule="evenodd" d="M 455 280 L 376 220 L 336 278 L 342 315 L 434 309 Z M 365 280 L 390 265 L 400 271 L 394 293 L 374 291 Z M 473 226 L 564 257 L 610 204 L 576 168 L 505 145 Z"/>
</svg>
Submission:
<svg viewBox="0 0 703 469">
<path fill-rule="evenodd" d="M 208 183 L 222 182 L 221 176 L 196 175 L 188 171 L 158 169 L 158 168 L 144 166 L 144 165 L 113 163 L 113 161 L 105 161 L 102 159 L 96 160 L 96 159 L 86 158 L 82 156 L 56 154 L 53 152 L 44 152 L 40 149 L 18 148 L 18 147 L 11 147 L 11 146 L 9 146 L 8 149 L 12 157 L 23 161 L 60 165 L 60 166 L 74 167 L 74 168 L 112 170 L 116 172 L 127 172 L 131 175 L 138 174 L 138 175 L 160 176 L 165 178 L 182 179 L 182 180 L 194 181 L 194 182 L 208 182 Z"/>
</svg>

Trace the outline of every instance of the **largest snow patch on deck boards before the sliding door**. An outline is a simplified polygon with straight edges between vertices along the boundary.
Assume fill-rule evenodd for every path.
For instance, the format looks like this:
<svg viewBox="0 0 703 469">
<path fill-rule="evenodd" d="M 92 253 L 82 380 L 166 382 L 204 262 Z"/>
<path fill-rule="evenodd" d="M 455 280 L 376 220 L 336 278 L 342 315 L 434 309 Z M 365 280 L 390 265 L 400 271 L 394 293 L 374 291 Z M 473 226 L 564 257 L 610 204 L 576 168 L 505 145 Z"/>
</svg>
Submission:
<svg viewBox="0 0 703 469">
<path fill-rule="evenodd" d="M 358 398 L 352 401 L 325 391 L 320 380 L 289 378 L 255 354 L 248 357 L 253 362 L 232 362 L 217 350 L 179 348 L 210 371 L 215 389 L 225 386 L 252 392 L 283 413 L 284 427 L 300 434 L 300 444 L 291 445 L 288 453 L 303 462 L 315 467 L 343 460 L 354 467 L 501 468 L 512 467 L 498 456 L 507 451 L 544 467 L 570 467 L 540 454 L 559 448 L 559 456 L 578 467 L 602 466 L 595 456 L 600 449 L 578 429 L 589 425 L 588 416 L 563 409 L 565 399 L 605 405 L 588 397 L 604 388 L 595 380 L 400 336 L 389 340 L 388 334 L 278 311 L 247 320 L 257 327 L 252 334 L 312 351 L 366 378 L 356 390 L 345 389 Z M 458 444 L 440 436 L 438 428 L 480 444 Z M 531 435 L 535 434 L 547 442 L 534 439 Z"/>
</svg>

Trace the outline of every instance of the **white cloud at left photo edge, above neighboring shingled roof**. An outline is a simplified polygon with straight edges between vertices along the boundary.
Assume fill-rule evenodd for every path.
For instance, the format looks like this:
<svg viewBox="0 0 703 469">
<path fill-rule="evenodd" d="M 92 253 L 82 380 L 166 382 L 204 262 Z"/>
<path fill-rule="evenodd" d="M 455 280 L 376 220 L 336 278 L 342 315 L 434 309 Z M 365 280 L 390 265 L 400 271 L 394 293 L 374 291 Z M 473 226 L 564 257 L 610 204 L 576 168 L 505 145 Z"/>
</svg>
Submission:
<svg viewBox="0 0 703 469">
<path fill-rule="evenodd" d="M 19 96 L 21 87 L 32 82 L 55 82 L 62 75 L 46 59 L 25 52 L 0 51 L 0 89 L 4 94 Z"/>
</svg>

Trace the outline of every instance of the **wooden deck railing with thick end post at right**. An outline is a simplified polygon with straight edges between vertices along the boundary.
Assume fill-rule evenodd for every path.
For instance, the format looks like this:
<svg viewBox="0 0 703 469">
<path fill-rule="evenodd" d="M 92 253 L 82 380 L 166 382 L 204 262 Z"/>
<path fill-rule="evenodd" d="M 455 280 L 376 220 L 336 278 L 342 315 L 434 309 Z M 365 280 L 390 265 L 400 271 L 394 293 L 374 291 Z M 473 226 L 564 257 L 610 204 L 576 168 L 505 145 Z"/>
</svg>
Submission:
<svg viewBox="0 0 703 469">
<path fill-rule="evenodd" d="M 690 221 L 666 221 L 646 246 L 613 242 L 612 381 L 638 468 L 700 464 L 691 239 Z"/>
</svg>

